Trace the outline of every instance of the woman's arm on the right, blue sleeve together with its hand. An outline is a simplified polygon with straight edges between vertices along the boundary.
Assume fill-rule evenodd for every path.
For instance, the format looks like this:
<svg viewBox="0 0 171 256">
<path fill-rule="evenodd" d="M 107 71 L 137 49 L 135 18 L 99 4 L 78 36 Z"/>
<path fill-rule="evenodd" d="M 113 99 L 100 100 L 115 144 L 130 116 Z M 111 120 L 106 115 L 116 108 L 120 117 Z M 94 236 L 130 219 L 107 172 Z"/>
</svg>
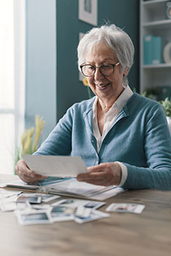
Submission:
<svg viewBox="0 0 171 256">
<path fill-rule="evenodd" d="M 138 140 L 135 140 L 134 143 L 138 143 Z M 134 143 L 131 145 L 134 146 Z M 122 162 L 127 167 L 128 173 L 123 188 L 171 190 L 171 138 L 160 105 L 154 105 L 145 118 L 143 148 L 148 167 Z M 127 151 L 129 154 L 129 148 Z M 104 186 L 119 184 L 121 170 L 115 165 L 115 162 L 96 165 L 90 167 L 89 170 L 89 173 L 81 174 L 77 176 L 77 179 Z"/>
</svg>

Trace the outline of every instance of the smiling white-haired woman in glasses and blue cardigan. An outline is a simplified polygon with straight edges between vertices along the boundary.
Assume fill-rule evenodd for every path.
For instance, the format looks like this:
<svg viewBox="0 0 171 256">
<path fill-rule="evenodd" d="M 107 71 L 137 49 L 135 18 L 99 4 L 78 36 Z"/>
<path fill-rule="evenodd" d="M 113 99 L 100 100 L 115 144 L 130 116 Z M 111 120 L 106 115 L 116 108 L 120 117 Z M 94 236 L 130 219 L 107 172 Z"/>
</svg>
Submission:
<svg viewBox="0 0 171 256">
<path fill-rule="evenodd" d="M 134 46 L 115 25 L 91 29 L 77 48 L 78 67 L 95 97 L 73 105 L 35 154 L 80 156 L 78 181 L 126 189 L 171 189 L 171 138 L 158 102 L 133 93 L 127 75 Z M 23 181 L 35 175 L 23 160 Z"/>
</svg>

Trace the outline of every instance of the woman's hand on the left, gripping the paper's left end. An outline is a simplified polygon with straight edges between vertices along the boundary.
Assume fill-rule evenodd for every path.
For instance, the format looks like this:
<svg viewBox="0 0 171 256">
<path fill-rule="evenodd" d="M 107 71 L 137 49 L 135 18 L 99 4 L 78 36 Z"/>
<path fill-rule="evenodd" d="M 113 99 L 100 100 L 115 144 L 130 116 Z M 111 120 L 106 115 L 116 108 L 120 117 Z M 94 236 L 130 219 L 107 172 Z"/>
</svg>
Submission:
<svg viewBox="0 0 171 256">
<path fill-rule="evenodd" d="M 42 181 L 44 178 L 47 178 L 45 176 L 35 174 L 32 170 L 28 168 L 26 162 L 23 159 L 18 161 L 17 165 L 15 166 L 15 172 L 18 174 L 20 179 L 27 183 Z"/>
</svg>

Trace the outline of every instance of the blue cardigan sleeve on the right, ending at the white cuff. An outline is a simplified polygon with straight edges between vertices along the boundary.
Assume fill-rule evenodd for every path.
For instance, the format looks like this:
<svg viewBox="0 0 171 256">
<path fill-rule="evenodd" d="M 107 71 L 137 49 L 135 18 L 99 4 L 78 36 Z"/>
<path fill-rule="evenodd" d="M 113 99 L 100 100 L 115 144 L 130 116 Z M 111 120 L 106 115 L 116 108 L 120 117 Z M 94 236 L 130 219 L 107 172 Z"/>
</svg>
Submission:
<svg viewBox="0 0 171 256">
<path fill-rule="evenodd" d="M 128 170 L 125 189 L 171 190 L 171 138 L 161 105 L 154 105 L 145 121 L 144 151 L 148 167 L 123 163 Z"/>
</svg>

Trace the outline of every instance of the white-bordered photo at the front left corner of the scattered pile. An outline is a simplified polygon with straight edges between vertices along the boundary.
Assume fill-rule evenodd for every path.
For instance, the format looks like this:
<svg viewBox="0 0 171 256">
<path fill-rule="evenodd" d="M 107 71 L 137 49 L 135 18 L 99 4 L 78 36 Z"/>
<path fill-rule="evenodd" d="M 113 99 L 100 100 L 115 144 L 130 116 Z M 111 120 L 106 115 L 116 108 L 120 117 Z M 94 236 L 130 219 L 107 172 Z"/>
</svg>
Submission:
<svg viewBox="0 0 171 256">
<path fill-rule="evenodd" d="M 35 225 L 51 223 L 49 211 L 15 211 L 20 225 Z"/>
</svg>

